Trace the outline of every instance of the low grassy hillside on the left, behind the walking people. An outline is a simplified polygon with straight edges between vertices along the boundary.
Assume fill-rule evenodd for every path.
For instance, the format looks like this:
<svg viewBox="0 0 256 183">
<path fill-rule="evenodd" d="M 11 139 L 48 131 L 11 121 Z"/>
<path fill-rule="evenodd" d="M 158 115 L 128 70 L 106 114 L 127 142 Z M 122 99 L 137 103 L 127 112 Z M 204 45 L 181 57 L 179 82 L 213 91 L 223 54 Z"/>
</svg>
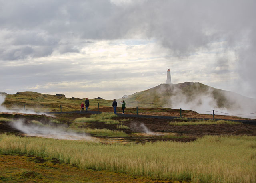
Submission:
<svg viewBox="0 0 256 183">
<path fill-rule="evenodd" d="M 49 94 L 41 94 L 36 92 L 18 92 L 19 94 L 7 95 L 2 104 L 9 109 L 23 109 L 24 104 L 26 109 L 33 108 L 35 111 L 62 111 L 79 110 L 81 103 L 85 98 L 66 98 L 64 96 L 56 96 Z M 90 109 L 100 106 L 112 106 L 112 100 L 104 99 L 89 99 Z"/>
</svg>

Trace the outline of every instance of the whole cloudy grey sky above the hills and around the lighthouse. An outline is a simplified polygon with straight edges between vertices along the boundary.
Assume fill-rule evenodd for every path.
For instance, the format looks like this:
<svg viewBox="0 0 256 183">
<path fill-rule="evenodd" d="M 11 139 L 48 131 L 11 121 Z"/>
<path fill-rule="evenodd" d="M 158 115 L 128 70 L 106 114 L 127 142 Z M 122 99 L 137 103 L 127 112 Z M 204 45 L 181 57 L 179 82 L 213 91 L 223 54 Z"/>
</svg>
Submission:
<svg viewBox="0 0 256 183">
<path fill-rule="evenodd" d="M 255 0 L 0 0 L 0 91 L 121 98 L 166 81 L 256 98 Z"/>
</svg>

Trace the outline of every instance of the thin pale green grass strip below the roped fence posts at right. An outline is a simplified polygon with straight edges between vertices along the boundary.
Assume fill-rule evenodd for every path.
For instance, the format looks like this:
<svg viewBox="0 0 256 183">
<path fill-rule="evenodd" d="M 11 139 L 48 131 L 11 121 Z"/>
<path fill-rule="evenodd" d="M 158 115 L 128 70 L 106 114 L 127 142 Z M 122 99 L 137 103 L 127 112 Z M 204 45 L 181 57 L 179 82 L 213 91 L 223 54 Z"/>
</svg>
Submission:
<svg viewBox="0 0 256 183">
<path fill-rule="evenodd" d="M 172 121 L 170 125 L 186 126 L 186 125 L 211 125 L 211 124 L 242 124 L 242 122 L 226 121 L 226 120 L 191 120 L 191 121 Z"/>
</svg>

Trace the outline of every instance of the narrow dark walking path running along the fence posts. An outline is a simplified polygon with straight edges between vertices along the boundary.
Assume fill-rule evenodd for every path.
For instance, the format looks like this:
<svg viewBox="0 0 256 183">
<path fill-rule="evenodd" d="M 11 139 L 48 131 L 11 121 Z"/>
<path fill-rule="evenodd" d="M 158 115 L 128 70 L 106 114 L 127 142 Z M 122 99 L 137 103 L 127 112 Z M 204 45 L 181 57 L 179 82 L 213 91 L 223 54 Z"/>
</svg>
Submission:
<svg viewBox="0 0 256 183">
<path fill-rule="evenodd" d="M 85 112 L 82 111 L 67 111 L 67 112 L 47 112 L 48 114 L 68 114 L 68 113 L 78 113 L 78 114 L 85 114 L 85 113 L 89 113 L 89 114 L 101 114 L 102 112 L 100 111 L 92 111 L 92 110 L 88 110 Z M 157 118 L 157 119 L 177 119 L 179 117 L 173 117 L 173 116 L 151 116 L 151 115 L 137 115 L 137 114 L 121 114 L 118 113 L 118 116 L 122 116 L 122 117 L 133 117 L 133 118 Z M 203 120 L 203 118 L 187 118 L 187 119 L 191 119 L 191 120 Z M 211 119 L 205 119 L 204 120 L 212 120 Z M 226 120 L 226 119 L 215 119 L 215 120 Z M 234 121 L 234 122 L 242 122 L 243 124 L 252 124 L 252 125 L 256 125 L 256 120 L 226 120 L 226 121 Z"/>
</svg>

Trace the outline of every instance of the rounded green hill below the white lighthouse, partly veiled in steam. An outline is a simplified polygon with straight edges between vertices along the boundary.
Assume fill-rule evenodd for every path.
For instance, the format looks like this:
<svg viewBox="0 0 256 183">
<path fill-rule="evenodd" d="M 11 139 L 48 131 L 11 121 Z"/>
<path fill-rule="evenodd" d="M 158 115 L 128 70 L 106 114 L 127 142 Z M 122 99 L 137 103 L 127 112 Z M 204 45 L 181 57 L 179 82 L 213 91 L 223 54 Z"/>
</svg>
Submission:
<svg viewBox="0 0 256 183">
<path fill-rule="evenodd" d="M 198 82 L 160 84 L 148 90 L 134 93 L 124 100 L 127 106 L 147 108 L 182 108 L 182 105 L 206 105 L 207 107 L 212 107 L 212 109 L 226 108 L 235 110 L 244 108 L 243 105 L 256 106 L 255 99 L 216 89 Z"/>
</svg>

